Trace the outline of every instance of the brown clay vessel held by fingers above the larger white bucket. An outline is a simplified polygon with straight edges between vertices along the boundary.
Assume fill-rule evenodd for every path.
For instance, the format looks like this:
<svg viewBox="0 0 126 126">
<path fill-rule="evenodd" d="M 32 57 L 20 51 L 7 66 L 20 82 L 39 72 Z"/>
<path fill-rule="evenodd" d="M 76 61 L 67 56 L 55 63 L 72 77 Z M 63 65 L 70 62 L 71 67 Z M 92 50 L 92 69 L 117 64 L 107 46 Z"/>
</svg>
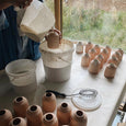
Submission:
<svg viewBox="0 0 126 126">
<path fill-rule="evenodd" d="M 58 48 L 60 44 L 61 33 L 58 30 L 50 30 L 45 36 L 48 48 Z"/>
</svg>

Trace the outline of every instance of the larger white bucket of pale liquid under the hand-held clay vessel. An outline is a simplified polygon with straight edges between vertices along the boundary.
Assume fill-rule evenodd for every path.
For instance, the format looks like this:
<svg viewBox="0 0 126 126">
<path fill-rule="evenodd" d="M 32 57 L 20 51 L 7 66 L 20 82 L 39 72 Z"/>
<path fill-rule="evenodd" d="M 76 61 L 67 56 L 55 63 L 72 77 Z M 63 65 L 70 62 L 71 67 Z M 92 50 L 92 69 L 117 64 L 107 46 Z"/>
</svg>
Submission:
<svg viewBox="0 0 126 126">
<path fill-rule="evenodd" d="M 57 49 L 47 47 L 47 42 L 39 46 L 45 68 L 45 76 L 48 81 L 62 82 L 70 78 L 73 44 L 62 41 Z"/>
</svg>

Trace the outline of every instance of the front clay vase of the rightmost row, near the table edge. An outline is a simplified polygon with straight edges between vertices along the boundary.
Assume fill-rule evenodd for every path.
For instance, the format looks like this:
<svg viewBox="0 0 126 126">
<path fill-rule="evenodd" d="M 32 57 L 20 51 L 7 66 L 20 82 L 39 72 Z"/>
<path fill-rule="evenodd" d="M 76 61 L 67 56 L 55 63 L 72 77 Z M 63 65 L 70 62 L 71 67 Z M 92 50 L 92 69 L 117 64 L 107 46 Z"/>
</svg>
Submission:
<svg viewBox="0 0 126 126">
<path fill-rule="evenodd" d="M 116 68 L 117 67 L 114 64 L 107 64 L 104 71 L 104 77 L 107 79 L 113 79 L 115 77 Z"/>
</svg>

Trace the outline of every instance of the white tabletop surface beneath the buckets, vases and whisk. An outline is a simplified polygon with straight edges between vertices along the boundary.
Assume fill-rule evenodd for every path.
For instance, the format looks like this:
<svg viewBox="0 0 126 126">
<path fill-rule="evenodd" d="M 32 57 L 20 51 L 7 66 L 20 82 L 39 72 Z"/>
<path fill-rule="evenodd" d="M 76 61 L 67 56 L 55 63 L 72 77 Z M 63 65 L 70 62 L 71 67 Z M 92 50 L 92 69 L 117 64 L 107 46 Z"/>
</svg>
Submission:
<svg viewBox="0 0 126 126">
<path fill-rule="evenodd" d="M 62 83 L 53 83 L 46 81 L 43 61 L 42 59 L 37 60 L 36 78 L 38 88 L 36 92 L 32 92 L 25 96 L 28 99 L 30 104 L 42 105 L 42 96 L 47 89 L 60 91 L 67 94 L 72 93 L 79 88 L 96 89 L 102 96 L 102 105 L 95 111 L 85 112 L 88 115 L 88 126 L 112 126 L 117 107 L 126 91 L 126 55 L 124 55 L 113 80 L 107 80 L 104 78 L 105 65 L 99 75 L 90 75 L 88 69 L 81 67 L 81 57 L 82 55 L 73 53 L 71 77 L 68 81 Z M 15 96 L 18 96 L 18 94 L 14 92 L 11 83 L 9 82 L 5 72 L 1 72 L 0 108 L 9 108 L 13 111 L 12 101 Z M 73 106 L 70 98 L 57 99 L 57 105 L 59 105 L 61 102 L 68 102 L 72 106 L 72 110 L 77 110 L 77 107 Z"/>
</svg>

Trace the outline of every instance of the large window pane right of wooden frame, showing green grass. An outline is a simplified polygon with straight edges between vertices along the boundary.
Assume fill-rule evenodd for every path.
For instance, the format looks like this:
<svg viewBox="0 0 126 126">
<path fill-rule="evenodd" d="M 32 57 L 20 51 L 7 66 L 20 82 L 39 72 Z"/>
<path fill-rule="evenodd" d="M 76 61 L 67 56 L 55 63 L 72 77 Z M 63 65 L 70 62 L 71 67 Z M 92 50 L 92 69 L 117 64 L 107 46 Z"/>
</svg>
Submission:
<svg viewBox="0 0 126 126">
<path fill-rule="evenodd" d="M 126 50 L 126 0 L 65 0 L 64 37 Z"/>
</svg>

